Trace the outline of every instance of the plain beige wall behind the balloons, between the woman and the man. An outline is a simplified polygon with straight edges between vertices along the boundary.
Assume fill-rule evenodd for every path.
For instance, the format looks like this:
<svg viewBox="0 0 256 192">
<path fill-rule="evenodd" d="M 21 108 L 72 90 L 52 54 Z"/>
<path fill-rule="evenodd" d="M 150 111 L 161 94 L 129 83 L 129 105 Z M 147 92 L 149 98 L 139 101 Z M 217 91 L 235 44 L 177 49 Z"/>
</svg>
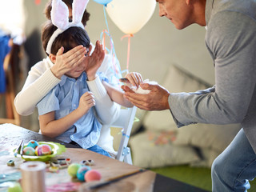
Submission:
<svg viewBox="0 0 256 192">
<path fill-rule="evenodd" d="M 96 42 L 102 30 L 106 29 L 103 8 L 102 5 L 90 1 L 87 10 L 91 15 L 86 30 L 91 41 Z M 121 68 L 125 70 L 127 39 L 121 41 L 124 34 L 108 15 L 107 20 Z M 158 16 L 157 4 L 150 21 L 131 38 L 130 71 L 138 71 L 144 78 L 162 82 L 166 67 L 176 64 L 203 81 L 214 84 L 214 66 L 206 50 L 205 32 L 204 27 L 197 25 L 176 30 L 168 19 Z"/>
</svg>

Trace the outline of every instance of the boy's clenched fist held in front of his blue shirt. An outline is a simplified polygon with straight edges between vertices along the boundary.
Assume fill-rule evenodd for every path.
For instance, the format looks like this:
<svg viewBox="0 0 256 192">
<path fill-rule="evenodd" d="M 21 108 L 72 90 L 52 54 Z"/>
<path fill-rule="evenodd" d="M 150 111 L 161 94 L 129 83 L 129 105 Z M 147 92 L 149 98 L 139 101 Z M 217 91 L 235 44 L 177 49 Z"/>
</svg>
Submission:
<svg viewBox="0 0 256 192">
<path fill-rule="evenodd" d="M 82 114 L 86 114 L 92 106 L 95 106 L 94 94 L 88 91 L 80 98 L 78 110 L 80 110 Z"/>
</svg>

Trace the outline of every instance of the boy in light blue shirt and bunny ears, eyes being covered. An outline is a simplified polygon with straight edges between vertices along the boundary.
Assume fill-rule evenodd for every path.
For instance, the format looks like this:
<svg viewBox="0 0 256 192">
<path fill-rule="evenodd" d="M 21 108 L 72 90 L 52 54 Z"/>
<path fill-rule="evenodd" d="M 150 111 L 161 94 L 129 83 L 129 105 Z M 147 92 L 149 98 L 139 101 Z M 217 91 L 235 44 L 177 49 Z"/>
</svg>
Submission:
<svg viewBox="0 0 256 192">
<path fill-rule="evenodd" d="M 59 6 L 63 6 L 63 4 L 54 1 L 52 11 Z M 79 6 L 82 5 L 79 4 Z M 58 10 L 55 14 L 63 14 L 63 12 L 63 10 Z M 79 14 L 82 13 L 80 10 Z M 121 91 L 105 82 L 107 79 L 102 74 L 96 73 L 102 64 L 105 53 L 100 43 L 97 42 L 94 53 L 90 55 L 90 39 L 80 23 L 81 20 L 79 22 L 76 20 L 79 18 L 78 16 L 74 12 L 74 21 L 65 23 L 58 15 L 52 14 L 53 23 L 58 28 L 51 22 L 46 22 L 42 30 L 42 44 L 53 63 L 56 62 L 60 47 L 66 52 L 75 46 L 82 45 L 86 47 L 86 55 L 84 58 L 70 63 L 70 65 L 76 65 L 76 68 L 62 76 L 62 81 L 38 102 L 40 129 L 42 134 L 47 136 L 58 138 L 63 142 L 75 142 L 82 148 L 110 156 L 96 145 L 102 125 L 94 114 L 92 106 L 95 106 L 96 103 L 87 82 L 96 79 L 106 87 L 107 93 L 114 102 L 127 107 L 133 105 L 123 98 Z M 56 18 L 58 21 L 54 20 Z M 132 76 L 133 74 L 128 74 L 127 78 L 131 79 Z M 102 80 L 105 81 L 102 82 Z"/>
</svg>

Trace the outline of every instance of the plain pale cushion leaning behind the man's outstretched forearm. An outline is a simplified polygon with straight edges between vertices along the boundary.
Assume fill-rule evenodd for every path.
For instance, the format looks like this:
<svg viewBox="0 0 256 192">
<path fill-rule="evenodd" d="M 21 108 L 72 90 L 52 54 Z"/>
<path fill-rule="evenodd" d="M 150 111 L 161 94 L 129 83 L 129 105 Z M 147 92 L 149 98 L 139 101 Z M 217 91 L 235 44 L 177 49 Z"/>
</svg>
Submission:
<svg viewBox="0 0 256 192">
<path fill-rule="evenodd" d="M 177 66 L 169 67 L 162 86 L 172 93 L 204 90 L 209 87 Z M 175 122 L 170 110 L 149 111 L 143 120 L 143 125 L 147 130 L 170 130 L 170 127 L 176 129 L 176 126 L 173 126 Z"/>
</svg>

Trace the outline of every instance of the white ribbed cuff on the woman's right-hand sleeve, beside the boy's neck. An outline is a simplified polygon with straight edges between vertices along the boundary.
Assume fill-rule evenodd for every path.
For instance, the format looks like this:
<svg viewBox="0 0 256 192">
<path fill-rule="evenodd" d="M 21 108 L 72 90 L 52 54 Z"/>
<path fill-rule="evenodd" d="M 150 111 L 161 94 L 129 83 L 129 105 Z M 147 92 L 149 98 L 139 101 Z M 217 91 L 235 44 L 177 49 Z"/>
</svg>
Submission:
<svg viewBox="0 0 256 192">
<path fill-rule="evenodd" d="M 103 98 L 106 95 L 106 89 L 102 85 L 101 79 L 97 76 L 93 81 L 86 81 L 95 98 Z"/>
</svg>

